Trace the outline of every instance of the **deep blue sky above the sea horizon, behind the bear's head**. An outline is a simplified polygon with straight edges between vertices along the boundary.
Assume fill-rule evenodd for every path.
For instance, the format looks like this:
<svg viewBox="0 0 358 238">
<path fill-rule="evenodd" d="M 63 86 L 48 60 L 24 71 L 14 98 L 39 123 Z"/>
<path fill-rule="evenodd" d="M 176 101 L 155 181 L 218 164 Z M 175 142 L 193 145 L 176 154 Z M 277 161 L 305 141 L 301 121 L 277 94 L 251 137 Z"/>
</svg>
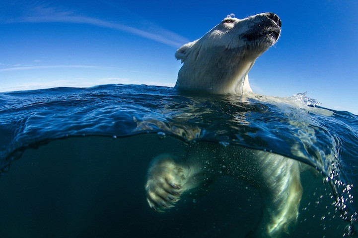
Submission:
<svg viewBox="0 0 358 238">
<path fill-rule="evenodd" d="M 253 90 L 308 92 L 358 114 L 358 1 L 0 0 L 0 92 L 99 84 L 173 86 L 181 45 L 227 14 L 275 12 L 278 43 L 257 59 Z"/>
</svg>

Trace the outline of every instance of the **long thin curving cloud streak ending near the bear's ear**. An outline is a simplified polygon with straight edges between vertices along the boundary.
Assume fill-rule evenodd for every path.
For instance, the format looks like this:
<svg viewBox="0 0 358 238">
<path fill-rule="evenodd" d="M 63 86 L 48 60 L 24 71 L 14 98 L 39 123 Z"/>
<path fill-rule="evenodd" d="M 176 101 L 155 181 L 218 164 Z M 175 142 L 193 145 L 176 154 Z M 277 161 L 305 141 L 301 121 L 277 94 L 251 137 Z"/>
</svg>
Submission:
<svg viewBox="0 0 358 238">
<path fill-rule="evenodd" d="M 171 47 L 180 47 L 187 43 L 188 40 L 179 36 L 176 33 L 165 29 L 150 29 L 142 30 L 135 27 L 101 20 L 93 17 L 86 17 L 76 15 L 72 11 L 58 10 L 54 7 L 36 6 L 32 9 L 29 16 L 22 16 L 7 20 L 5 23 L 40 23 L 40 22 L 62 22 L 62 23 L 77 23 L 89 24 L 99 27 L 106 27 L 118 31 L 128 32 L 152 41 L 156 41 Z M 158 33 L 159 32 L 159 33 Z"/>
</svg>

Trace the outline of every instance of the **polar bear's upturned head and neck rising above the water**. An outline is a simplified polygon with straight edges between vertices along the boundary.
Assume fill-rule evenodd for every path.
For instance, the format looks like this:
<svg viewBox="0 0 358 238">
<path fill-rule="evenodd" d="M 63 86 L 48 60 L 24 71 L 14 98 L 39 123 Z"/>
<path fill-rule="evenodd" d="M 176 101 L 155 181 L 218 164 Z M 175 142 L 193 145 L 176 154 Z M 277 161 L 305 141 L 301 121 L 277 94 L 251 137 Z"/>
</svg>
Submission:
<svg viewBox="0 0 358 238">
<path fill-rule="evenodd" d="M 281 20 L 274 13 L 224 18 L 202 38 L 176 51 L 183 66 L 175 87 L 217 94 L 252 92 L 247 73 L 280 33 Z"/>
</svg>

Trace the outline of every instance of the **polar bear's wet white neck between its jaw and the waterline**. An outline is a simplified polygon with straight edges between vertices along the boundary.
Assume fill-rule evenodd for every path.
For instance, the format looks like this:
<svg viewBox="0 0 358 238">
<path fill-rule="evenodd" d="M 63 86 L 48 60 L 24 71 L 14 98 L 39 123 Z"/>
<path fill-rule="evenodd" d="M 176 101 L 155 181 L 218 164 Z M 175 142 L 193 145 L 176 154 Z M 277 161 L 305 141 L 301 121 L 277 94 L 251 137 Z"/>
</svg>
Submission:
<svg viewBox="0 0 358 238">
<path fill-rule="evenodd" d="M 247 74 L 255 60 L 256 57 L 250 57 L 242 49 L 223 51 L 222 48 L 198 47 L 179 70 L 175 87 L 213 94 L 252 92 Z"/>
</svg>

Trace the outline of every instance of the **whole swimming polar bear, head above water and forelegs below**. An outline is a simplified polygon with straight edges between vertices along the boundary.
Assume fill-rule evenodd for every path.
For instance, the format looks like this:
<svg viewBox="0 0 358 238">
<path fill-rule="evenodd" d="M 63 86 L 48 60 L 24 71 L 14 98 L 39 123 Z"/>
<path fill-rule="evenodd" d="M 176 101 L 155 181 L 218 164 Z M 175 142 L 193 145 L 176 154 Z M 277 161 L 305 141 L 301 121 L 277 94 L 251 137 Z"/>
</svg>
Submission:
<svg viewBox="0 0 358 238">
<path fill-rule="evenodd" d="M 176 51 L 183 66 L 175 87 L 252 96 L 247 74 L 280 33 L 281 19 L 274 13 L 224 18 L 202 38 Z M 246 237 L 279 238 L 296 221 L 302 195 L 299 162 L 238 146 L 198 143 L 184 155 L 157 156 L 148 168 L 146 200 L 155 211 L 165 211 L 183 193 L 206 186 L 218 175 L 233 176 L 260 191 L 261 218 Z"/>
</svg>

